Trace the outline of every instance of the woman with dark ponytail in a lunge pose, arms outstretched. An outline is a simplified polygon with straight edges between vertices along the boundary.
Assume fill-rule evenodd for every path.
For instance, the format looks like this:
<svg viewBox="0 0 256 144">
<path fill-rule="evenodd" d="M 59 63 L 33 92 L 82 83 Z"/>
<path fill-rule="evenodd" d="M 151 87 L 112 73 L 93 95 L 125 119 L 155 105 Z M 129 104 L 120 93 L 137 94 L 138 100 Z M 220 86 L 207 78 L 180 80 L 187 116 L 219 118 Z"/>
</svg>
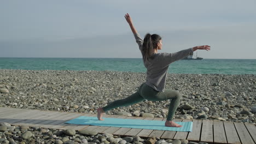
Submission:
<svg viewBox="0 0 256 144">
<path fill-rule="evenodd" d="M 196 50 L 210 50 L 210 46 L 195 46 L 190 49 L 182 50 L 176 53 L 158 53 L 162 49 L 162 40 L 158 34 L 146 34 L 144 40 L 141 39 L 129 14 L 125 15 L 126 21 L 131 27 L 131 31 L 135 36 L 139 50 L 142 52 L 143 63 L 147 68 L 147 80 L 143 83 L 136 93 L 130 97 L 113 101 L 111 104 L 97 109 L 97 117 L 100 121 L 103 113 L 115 109 L 120 106 L 128 106 L 139 103 L 142 100 L 161 101 L 171 99 L 171 104 L 168 110 L 168 116 L 165 122 L 166 127 L 182 127 L 172 121 L 175 111 L 178 108 L 181 94 L 171 89 L 165 89 L 168 67 L 172 62 L 178 61 L 189 55 L 193 55 Z"/>
</svg>

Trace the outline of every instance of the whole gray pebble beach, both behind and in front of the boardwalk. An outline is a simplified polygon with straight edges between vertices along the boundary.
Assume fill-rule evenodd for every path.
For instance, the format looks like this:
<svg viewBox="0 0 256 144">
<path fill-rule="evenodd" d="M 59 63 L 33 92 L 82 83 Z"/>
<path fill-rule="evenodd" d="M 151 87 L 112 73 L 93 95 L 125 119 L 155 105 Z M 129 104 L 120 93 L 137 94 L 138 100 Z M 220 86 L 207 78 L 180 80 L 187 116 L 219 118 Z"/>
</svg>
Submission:
<svg viewBox="0 0 256 144">
<path fill-rule="evenodd" d="M 105 106 L 114 100 L 129 97 L 146 80 L 145 73 L 122 71 L 1 69 L 0 74 L 0 107 L 84 113 L 97 113 L 98 107 Z M 254 124 L 256 122 L 255 75 L 168 74 L 165 88 L 179 91 L 182 94 L 181 104 L 177 109 L 175 118 L 211 119 Z M 169 104 L 170 100 L 144 100 L 131 106 L 107 111 L 106 114 L 166 118 Z M 0 128 L 13 129 L 13 132 L 6 132 L 5 129 L 1 132 L 0 129 L 0 143 L 7 140 L 6 133 L 14 135 L 15 129 L 22 134 L 19 127 L 13 128 L 14 126 L 7 126 L 3 123 L 0 125 L 2 125 Z M 40 128 L 27 129 L 40 131 Z M 25 131 L 23 132 L 25 133 Z M 56 137 L 51 137 L 58 130 L 48 129 L 48 131 L 51 131 L 49 137 L 53 139 L 51 141 L 53 143 L 58 143 L 57 140 L 60 140 L 59 143 L 67 143 L 68 141 L 71 143 L 102 143 L 103 141 L 99 139 L 95 142 L 95 137 L 106 139 L 106 141 L 108 137 L 113 137 L 95 134 L 92 135 L 93 137 L 87 137 L 88 139 L 84 136 L 79 138 L 80 141 L 75 141 L 74 139 L 77 138 L 75 135 L 78 135 L 77 131 L 76 134 L 69 135 L 68 140 L 64 142 L 61 140 L 62 138 L 56 139 L 58 137 L 56 134 Z M 39 143 L 47 143 L 49 137 Z M 85 140 L 82 141 L 83 139 L 86 142 Z M 114 136 L 113 139 L 119 139 L 119 137 Z M 9 142 L 15 141 L 16 143 L 20 142 L 13 138 Z M 146 141 L 138 142 L 146 143 Z M 163 141 L 157 137 L 156 141 L 166 142 L 166 140 Z M 37 140 L 34 142 L 36 143 Z M 130 143 L 134 143 L 134 141 L 130 141 Z M 174 142 L 169 140 L 166 143 Z M 187 141 L 187 143 L 189 142 Z"/>
</svg>

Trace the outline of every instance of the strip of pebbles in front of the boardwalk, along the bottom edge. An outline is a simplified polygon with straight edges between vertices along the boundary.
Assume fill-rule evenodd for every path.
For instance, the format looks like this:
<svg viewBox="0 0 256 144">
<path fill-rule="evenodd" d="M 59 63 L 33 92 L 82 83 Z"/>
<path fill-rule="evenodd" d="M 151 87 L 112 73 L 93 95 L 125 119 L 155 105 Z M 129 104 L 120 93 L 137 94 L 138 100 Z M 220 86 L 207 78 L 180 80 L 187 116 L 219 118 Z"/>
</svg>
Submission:
<svg viewBox="0 0 256 144">
<path fill-rule="evenodd" d="M 0 143 L 40 143 L 40 144 L 198 144 L 188 140 L 159 139 L 159 137 L 149 137 L 143 139 L 139 136 L 114 136 L 112 134 L 98 134 L 90 130 L 57 130 L 27 126 L 11 126 L 9 123 L 0 123 Z M 207 144 L 199 142 L 199 144 Z"/>
</svg>

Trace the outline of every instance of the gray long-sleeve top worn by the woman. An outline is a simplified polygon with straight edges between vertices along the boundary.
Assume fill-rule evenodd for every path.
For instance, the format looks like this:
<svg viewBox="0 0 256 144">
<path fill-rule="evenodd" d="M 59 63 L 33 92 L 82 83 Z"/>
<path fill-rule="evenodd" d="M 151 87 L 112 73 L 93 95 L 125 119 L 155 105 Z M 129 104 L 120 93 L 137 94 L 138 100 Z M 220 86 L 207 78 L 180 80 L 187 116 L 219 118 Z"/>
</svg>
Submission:
<svg viewBox="0 0 256 144">
<path fill-rule="evenodd" d="M 179 59 L 193 55 L 193 48 L 174 53 L 153 53 L 152 58 L 150 58 L 149 61 L 146 61 L 144 53 L 142 52 L 143 40 L 138 33 L 134 34 L 134 36 L 139 46 L 139 50 L 141 50 L 144 66 L 147 68 L 146 84 L 156 91 L 164 92 L 169 65 Z"/>
</svg>

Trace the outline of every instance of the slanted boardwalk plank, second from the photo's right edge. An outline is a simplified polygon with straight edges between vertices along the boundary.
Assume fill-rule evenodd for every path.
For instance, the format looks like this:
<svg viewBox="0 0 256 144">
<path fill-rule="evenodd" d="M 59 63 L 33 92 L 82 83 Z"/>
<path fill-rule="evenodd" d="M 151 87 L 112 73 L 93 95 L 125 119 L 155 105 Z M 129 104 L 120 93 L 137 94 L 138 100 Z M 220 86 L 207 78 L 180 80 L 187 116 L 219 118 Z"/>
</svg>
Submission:
<svg viewBox="0 0 256 144">
<path fill-rule="evenodd" d="M 243 144 L 251 144 L 254 143 L 252 137 L 250 136 L 249 132 L 247 131 L 245 124 L 243 123 L 234 123 L 236 127 L 236 131 L 240 140 Z"/>
</svg>

